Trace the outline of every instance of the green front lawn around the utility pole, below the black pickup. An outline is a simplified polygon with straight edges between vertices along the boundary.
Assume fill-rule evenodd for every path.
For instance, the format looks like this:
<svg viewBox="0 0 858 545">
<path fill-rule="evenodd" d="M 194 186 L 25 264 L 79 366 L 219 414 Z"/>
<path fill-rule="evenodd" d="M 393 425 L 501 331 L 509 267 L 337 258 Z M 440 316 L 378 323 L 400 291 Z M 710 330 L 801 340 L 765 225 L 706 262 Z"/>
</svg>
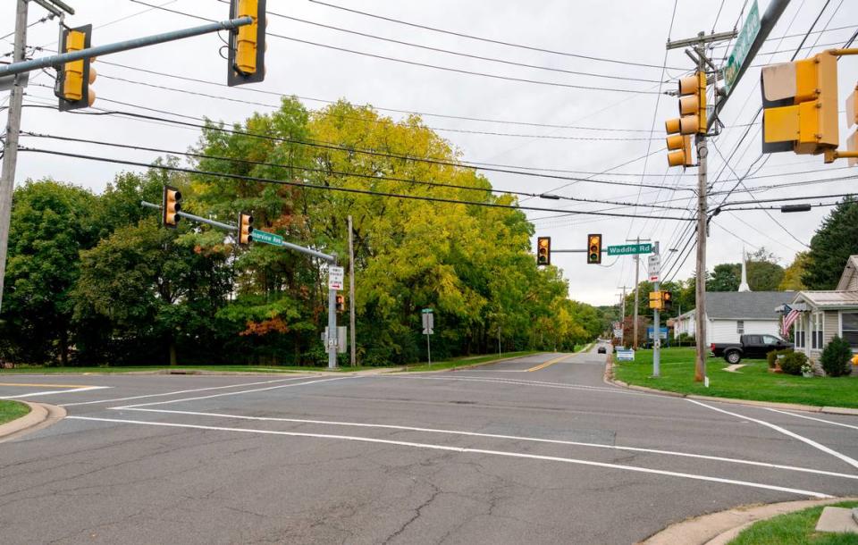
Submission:
<svg viewBox="0 0 858 545">
<path fill-rule="evenodd" d="M 662 348 L 661 377 L 651 378 L 652 350 L 638 350 L 634 362 L 614 362 L 614 376 L 629 384 L 718 398 L 801 403 L 818 407 L 858 407 L 858 377 L 805 379 L 769 373 L 765 360 L 744 359 L 737 373 L 723 371 L 727 362 L 710 357 L 706 362 L 710 387 L 694 381 L 694 348 Z"/>
</svg>

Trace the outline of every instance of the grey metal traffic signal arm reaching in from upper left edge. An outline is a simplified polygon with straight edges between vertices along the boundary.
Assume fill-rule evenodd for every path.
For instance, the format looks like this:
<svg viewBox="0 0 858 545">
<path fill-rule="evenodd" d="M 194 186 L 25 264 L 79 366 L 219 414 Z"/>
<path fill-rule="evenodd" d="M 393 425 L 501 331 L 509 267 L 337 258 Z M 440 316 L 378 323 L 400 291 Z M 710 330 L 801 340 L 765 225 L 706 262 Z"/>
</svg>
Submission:
<svg viewBox="0 0 858 545">
<path fill-rule="evenodd" d="M 80 61 L 89 57 L 97 57 L 100 55 L 110 55 L 111 53 L 119 53 L 120 51 L 128 51 L 130 49 L 138 49 L 139 47 L 154 46 L 163 44 L 164 42 L 172 42 L 177 39 L 193 38 L 202 34 L 209 34 L 219 30 L 231 30 L 243 27 L 253 22 L 250 17 L 241 17 L 240 19 L 231 19 L 229 21 L 213 22 L 201 27 L 193 27 L 190 29 L 173 30 L 172 32 L 164 32 L 164 34 L 155 34 L 144 38 L 134 38 L 106 46 L 89 47 L 80 51 L 71 53 L 63 53 L 63 55 L 53 55 L 49 57 L 41 57 L 32 61 L 23 61 L 21 63 L 12 63 L 0 65 L 0 76 L 11 76 L 20 74 L 21 72 L 34 71 L 41 68 L 50 68 L 52 66 L 71 63 L 72 61 Z"/>
</svg>

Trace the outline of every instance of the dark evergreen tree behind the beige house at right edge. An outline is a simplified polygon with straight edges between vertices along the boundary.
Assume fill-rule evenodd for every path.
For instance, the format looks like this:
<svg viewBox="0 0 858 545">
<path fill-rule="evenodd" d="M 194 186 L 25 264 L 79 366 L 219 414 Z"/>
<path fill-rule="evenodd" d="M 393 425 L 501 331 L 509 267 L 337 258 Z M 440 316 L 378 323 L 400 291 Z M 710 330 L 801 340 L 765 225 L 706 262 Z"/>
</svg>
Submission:
<svg viewBox="0 0 858 545">
<path fill-rule="evenodd" d="M 835 289 L 849 256 L 858 254 L 858 200 L 846 197 L 811 239 L 802 281 L 808 289 Z"/>
</svg>

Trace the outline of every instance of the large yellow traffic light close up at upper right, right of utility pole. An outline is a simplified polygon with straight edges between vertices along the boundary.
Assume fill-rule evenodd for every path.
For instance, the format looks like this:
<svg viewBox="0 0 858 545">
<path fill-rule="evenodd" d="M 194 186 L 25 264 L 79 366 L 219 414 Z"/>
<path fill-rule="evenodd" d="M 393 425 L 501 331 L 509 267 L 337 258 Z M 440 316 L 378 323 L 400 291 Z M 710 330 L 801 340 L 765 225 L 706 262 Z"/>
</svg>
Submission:
<svg viewBox="0 0 858 545">
<path fill-rule="evenodd" d="M 837 56 L 823 51 L 763 66 L 762 152 L 818 155 L 837 149 Z"/>
</svg>

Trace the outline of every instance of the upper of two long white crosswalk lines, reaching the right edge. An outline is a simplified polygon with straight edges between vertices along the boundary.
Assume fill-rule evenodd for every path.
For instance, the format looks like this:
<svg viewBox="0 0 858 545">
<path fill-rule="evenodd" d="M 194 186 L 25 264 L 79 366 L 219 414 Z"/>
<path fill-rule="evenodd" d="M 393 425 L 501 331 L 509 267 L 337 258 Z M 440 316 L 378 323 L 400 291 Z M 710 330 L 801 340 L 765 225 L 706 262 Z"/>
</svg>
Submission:
<svg viewBox="0 0 858 545">
<path fill-rule="evenodd" d="M 121 410 L 121 409 L 115 409 Z M 587 443 L 583 441 L 570 441 L 570 440 L 558 440 L 558 439 L 543 439 L 537 437 L 521 437 L 517 435 L 501 435 L 498 433 L 480 433 L 480 432 L 465 432 L 460 430 L 445 430 L 441 428 L 420 428 L 416 426 L 400 426 L 394 424 L 383 424 L 383 423 L 356 423 L 356 422 L 335 422 L 330 420 L 308 420 L 304 418 L 278 418 L 273 416 L 245 416 L 245 415 L 224 415 L 221 413 L 203 413 L 198 411 L 172 411 L 169 409 L 146 409 L 146 408 L 130 408 L 124 409 L 129 411 L 140 411 L 146 413 L 165 413 L 169 415 L 192 415 L 192 416 L 210 416 L 214 418 L 234 418 L 237 420 L 256 420 L 262 422 L 289 422 L 289 423 L 312 423 L 312 424 L 320 424 L 320 425 L 332 425 L 332 426 L 351 426 L 357 428 L 379 428 L 384 430 L 401 430 L 404 432 L 427 432 L 427 433 L 442 433 L 447 435 L 464 435 L 467 437 L 486 437 L 490 439 L 509 439 L 509 440 L 517 440 L 517 441 L 532 441 L 538 443 L 551 443 L 555 445 L 568 445 L 573 447 L 593 447 L 595 449 L 610 449 L 610 450 L 624 450 L 629 452 L 645 452 L 648 454 L 661 454 L 667 456 L 677 456 L 677 457 L 689 457 L 689 458 L 700 458 L 704 460 L 713 460 L 718 462 L 728 462 L 731 464 L 744 464 L 744 465 L 756 465 L 759 467 L 768 467 L 770 469 L 785 469 L 788 471 L 797 471 L 802 473 L 810 473 L 810 474 L 820 474 L 820 475 L 828 475 L 830 477 L 840 477 L 844 479 L 854 479 L 858 480 L 858 475 L 853 474 L 841 474 L 832 471 L 824 471 L 820 469 L 811 469 L 807 467 L 798 467 L 795 465 L 780 465 L 780 464 L 770 464 L 768 462 L 757 462 L 754 460 L 744 460 L 741 458 L 730 458 L 730 457 L 719 457 L 719 456 L 709 456 L 705 454 L 691 454 L 687 452 L 677 452 L 674 450 L 661 450 L 661 449 L 644 449 L 640 447 L 619 447 L 617 445 L 605 445 L 602 443 Z"/>
</svg>

